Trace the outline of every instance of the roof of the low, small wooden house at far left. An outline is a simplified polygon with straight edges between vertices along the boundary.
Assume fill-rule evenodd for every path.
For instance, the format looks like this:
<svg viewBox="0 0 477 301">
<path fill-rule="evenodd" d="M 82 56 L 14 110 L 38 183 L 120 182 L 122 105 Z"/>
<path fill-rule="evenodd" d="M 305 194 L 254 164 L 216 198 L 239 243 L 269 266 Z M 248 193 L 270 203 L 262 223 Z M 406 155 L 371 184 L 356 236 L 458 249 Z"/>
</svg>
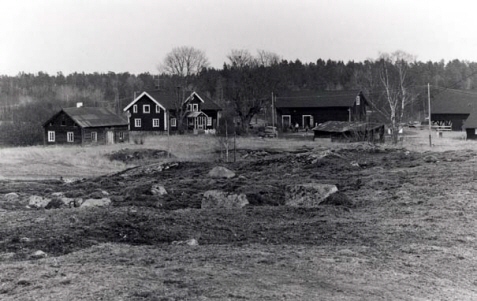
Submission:
<svg viewBox="0 0 477 301">
<path fill-rule="evenodd" d="M 128 125 L 127 120 L 116 115 L 109 109 L 80 107 L 61 109 L 61 111 L 46 121 L 43 126 L 46 126 L 48 123 L 50 123 L 51 120 L 56 118 L 56 116 L 58 116 L 61 112 L 65 112 L 65 114 L 68 115 L 76 124 L 78 124 L 78 126 L 83 128 Z"/>
</svg>

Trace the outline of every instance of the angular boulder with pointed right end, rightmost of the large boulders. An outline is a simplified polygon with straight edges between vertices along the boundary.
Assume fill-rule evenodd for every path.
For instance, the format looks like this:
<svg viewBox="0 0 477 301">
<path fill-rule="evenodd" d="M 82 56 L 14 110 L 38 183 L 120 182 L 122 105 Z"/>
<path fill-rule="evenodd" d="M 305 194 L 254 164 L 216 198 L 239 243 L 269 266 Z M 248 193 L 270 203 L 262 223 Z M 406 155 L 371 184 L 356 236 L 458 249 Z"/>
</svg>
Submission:
<svg viewBox="0 0 477 301">
<path fill-rule="evenodd" d="M 317 207 L 330 195 L 338 192 L 336 185 L 307 183 L 285 188 L 285 205 L 293 207 Z"/>
</svg>

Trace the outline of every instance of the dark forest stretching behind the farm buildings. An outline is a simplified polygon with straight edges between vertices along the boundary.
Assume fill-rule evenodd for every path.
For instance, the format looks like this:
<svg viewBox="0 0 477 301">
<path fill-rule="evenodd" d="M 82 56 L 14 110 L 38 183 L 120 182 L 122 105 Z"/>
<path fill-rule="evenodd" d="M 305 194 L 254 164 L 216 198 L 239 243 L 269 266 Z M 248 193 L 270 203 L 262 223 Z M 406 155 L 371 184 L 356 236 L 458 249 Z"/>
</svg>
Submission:
<svg viewBox="0 0 477 301">
<path fill-rule="evenodd" d="M 222 69 L 203 68 L 190 75 L 187 87 L 206 93 L 224 108 L 229 116 L 250 113 L 252 116 L 270 104 L 271 93 L 280 95 L 290 90 L 362 89 L 369 97 L 383 92 L 373 88 L 370 70 L 379 68 L 379 60 L 364 62 L 322 60 L 302 63 L 281 60 L 273 64 L 224 64 Z M 410 62 L 407 78 L 412 82 L 417 101 L 406 110 L 409 119 L 425 111 L 425 98 L 419 89 L 433 87 L 477 90 L 477 63 L 460 60 L 449 62 Z M 374 81 L 377 79 L 375 78 Z M 62 107 L 108 107 L 122 112 L 135 92 L 177 89 L 175 75 L 124 73 L 72 73 L 50 75 L 19 73 L 0 76 L 0 140 L 8 145 L 43 143 L 41 125 Z M 251 102 L 243 103 L 244 99 Z M 420 100 L 422 99 L 422 101 Z M 241 103 L 239 103 L 241 102 Z M 384 104 L 383 104 L 384 105 Z M 240 111 L 245 111 L 245 113 Z"/>
</svg>

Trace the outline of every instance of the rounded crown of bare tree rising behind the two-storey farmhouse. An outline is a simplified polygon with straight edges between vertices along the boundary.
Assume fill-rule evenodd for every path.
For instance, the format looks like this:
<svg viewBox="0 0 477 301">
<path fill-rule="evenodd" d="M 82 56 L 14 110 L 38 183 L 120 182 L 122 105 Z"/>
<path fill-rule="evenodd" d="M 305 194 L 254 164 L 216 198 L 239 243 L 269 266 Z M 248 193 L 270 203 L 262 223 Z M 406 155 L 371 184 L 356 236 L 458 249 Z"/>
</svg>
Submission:
<svg viewBox="0 0 477 301">
<path fill-rule="evenodd" d="M 197 75 L 208 66 L 209 60 L 204 51 L 194 47 L 181 46 L 172 49 L 166 55 L 163 63 L 159 66 L 159 71 L 185 79 Z"/>
</svg>

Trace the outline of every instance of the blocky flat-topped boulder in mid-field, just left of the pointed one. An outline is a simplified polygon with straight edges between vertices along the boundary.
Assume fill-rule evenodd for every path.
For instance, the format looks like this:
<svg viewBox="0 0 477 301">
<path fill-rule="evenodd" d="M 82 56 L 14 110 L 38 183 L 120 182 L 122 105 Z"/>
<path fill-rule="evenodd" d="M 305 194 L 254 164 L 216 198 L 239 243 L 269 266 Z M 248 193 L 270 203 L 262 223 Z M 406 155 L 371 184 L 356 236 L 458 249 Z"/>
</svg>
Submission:
<svg viewBox="0 0 477 301">
<path fill-rule="evenodd" d="M 233 194 L 221 190 L 208 190 L 202 198 L 201 208 L 243 208 L 248 205 L 247 196 L 243 193 Z"/>
</svg>

